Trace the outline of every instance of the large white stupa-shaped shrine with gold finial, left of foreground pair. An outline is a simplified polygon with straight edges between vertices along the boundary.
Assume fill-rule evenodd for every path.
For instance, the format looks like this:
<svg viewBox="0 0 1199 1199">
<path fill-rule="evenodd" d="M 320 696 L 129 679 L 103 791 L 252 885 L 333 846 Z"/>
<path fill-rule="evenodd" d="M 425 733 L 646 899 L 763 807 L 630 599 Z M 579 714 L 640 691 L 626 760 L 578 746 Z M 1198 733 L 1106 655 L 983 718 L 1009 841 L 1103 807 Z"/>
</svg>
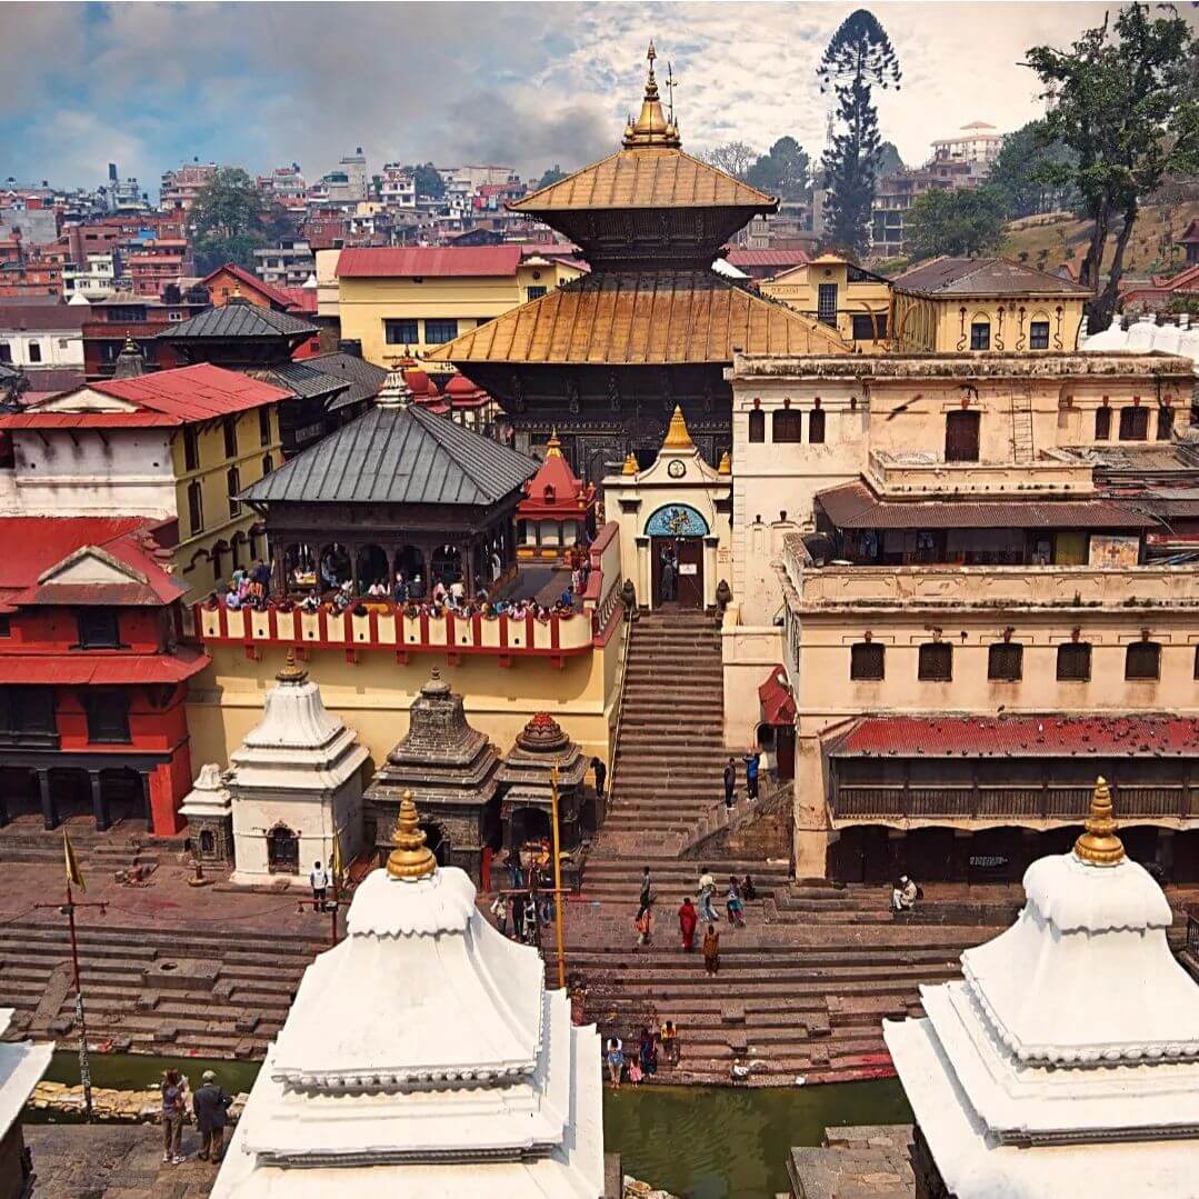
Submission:
<svg viewBox="0 0 1199 1199">
<path fill-rule="evenodd" d="M 400 802 L 396 849 L 308 968 L 212 1199 L 602 1199 L 600 1038 Z"/>
</svg>

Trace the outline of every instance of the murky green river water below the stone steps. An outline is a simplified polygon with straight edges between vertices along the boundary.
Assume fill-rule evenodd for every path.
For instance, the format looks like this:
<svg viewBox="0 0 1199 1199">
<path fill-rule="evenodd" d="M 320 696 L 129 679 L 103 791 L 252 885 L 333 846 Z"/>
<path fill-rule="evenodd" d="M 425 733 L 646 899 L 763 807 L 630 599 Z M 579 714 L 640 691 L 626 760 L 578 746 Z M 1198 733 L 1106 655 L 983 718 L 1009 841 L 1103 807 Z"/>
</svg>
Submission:
<svg viewBox="0 0 1199 1199">
<path fill-rule="evenodd" d="M 203 1058 L 96 1054 L 96 1086 L 152 1086 L 174 1067 L 193 1086 L 215 1070 L 228 1091 L 248 1091 L 258 1062 Z M 79 1081 L 79 1059 L 60 1050 L 46 1077 Z M 911 1110 L 896 1079 L 812 1087 L 631 1086 L 604 1089 L 604 1146 L 626 1174 L 681 1199 L 773 1199 L 787 1192 L 793 1145 L 819 1145 L 826 1127 L 908 1123 Z"/>
</svg>

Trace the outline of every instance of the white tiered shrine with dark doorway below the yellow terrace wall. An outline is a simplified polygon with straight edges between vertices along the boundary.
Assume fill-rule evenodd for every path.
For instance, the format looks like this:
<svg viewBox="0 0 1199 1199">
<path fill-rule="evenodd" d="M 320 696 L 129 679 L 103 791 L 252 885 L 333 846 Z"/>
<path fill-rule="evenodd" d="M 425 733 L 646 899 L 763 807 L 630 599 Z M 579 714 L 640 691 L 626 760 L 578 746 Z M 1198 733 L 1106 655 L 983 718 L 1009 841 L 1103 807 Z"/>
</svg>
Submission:
<svg viewBox="0 0 1199 1199">
<path fill-rule="evenodd" d="M 266 693 L 261 722 L 230 755 L 234 882 L 288 879 L 307 886 L 313 862 L 344 861 L 362 844 L 362 766 L 367 749 L 333 716 L 320 688 L 288 650 Z"/>
</svg>

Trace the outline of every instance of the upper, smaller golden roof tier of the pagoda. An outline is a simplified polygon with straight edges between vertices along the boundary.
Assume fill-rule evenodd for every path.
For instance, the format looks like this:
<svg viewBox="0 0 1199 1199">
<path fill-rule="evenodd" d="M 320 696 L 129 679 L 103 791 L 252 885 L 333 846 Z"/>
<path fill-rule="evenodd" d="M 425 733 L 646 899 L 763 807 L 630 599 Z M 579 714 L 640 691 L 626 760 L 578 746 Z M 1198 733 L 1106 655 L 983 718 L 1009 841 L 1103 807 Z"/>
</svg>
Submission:
<svg viewBox="0 0 1199 1199">
<path fill-rule="evenodd" d="M 511 212 L 595 209 L 728 209 L 773 212 L 778 200 L 682 150 L 638 146 L 507 205 Z"/>
</svg>

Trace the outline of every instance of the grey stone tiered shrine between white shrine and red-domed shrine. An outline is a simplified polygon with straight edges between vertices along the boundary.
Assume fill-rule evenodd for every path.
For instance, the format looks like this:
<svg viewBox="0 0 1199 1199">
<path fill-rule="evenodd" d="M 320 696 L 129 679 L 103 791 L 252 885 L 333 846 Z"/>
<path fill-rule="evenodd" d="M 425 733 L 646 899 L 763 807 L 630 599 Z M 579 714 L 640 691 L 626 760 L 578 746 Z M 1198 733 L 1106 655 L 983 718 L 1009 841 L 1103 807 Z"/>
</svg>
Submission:
<svg viewBox="0 0 1199 1199">
<path fill-rule="evenodd" d="M 462 695 L 434 669 L 412 704 L 406 735 L 366 790 L 368 844 L 376 846 L 380 860 L 386 857 L 400 797 L 411 791 L 438 861 L 482 885 L 502 842 L 499 769 L 495 746 L 470 727 Z"/>
</svg>

